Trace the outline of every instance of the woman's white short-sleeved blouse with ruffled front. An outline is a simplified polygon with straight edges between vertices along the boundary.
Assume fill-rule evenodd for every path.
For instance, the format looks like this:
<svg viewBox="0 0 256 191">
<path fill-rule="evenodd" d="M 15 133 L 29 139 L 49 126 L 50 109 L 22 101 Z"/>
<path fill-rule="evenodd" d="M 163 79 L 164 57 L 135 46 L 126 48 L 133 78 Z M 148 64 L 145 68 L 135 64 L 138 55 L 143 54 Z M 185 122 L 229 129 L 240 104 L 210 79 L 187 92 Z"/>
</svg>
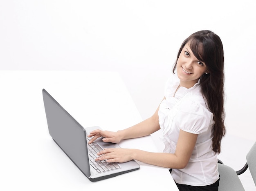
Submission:
<svg viewBox="0 0 256 191">
<path fill-rule="evenodd" d="M 158 115 L 165 153 L 175 153 L 180 129 L 198 134 L 189 163 L 184 169 L 172 169 L 176 183 L 206 186 L 219 179 L 218 153 L 212 149 L 213 113 L 207 109 L 200 89 L 200 82 L 187 89 L 180 87 L 177 74 L 166 82 L 165 98 Z M 175 97 L 173 97 L 175 94 Z"/>
</svg>

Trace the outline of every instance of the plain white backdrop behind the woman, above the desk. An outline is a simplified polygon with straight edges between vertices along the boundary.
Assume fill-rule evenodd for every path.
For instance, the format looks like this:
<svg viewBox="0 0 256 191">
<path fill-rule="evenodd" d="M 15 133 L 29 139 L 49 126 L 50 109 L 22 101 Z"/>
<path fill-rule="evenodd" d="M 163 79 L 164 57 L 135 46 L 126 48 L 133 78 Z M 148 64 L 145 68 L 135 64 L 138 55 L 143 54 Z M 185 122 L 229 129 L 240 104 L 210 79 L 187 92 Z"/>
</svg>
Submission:
<svg viewBox="0 0 256 191">
<path fill-rule="evenodd" d="M 118 71 L 146 119 L 182 41 L 209 29 L 225 52 L 222 160 L 238 170 L 256 135 L 255 7 L 255 0 L 0 0 L 0 69 Z M 252 180 L 244 184 L 255 190 Z"/>
</svg>

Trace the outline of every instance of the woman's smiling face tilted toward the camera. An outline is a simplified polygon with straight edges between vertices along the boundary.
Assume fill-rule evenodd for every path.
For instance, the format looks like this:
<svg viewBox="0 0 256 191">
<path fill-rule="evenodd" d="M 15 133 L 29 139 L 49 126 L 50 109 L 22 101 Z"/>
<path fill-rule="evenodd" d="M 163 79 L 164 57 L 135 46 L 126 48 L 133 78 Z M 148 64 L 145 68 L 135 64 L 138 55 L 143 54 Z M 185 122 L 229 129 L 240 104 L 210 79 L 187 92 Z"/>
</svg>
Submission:
<svg viewBox="0 0 256 191">
<path fill-rule="evenodd" d="M 194 56 L 189 44 L 186 43 L 177 60 L 177 75 L 180 78 L 180 86 L 193 87 L 203 73 L 207 71 L 205 63 Z"/>
</svg>

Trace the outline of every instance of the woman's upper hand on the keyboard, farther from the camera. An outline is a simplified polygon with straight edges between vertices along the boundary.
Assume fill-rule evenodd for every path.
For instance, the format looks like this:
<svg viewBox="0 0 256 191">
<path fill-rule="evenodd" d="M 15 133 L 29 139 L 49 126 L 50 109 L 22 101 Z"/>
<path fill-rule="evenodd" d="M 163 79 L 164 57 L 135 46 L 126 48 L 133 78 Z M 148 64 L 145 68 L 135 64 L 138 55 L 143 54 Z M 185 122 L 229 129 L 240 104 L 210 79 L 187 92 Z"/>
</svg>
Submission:
<svg viewBox="0 0 256 191">
<path fill-rule="evenodd" d="M 88 144 L 91 144 L 96 140 L 97 138 L 103 137 L 102 141 L 103 142 L 112 142 L 112 143 L 117 143 L 121 141 L 121 135 L 119 133 L 120 131 L 117 132 L 112 132 L 112 131 L 102 131 L 102 130 L 94 130 L 90 132 L 88 137 L 92 137 L 92 139 L 88 142 Z"/>
</svg>

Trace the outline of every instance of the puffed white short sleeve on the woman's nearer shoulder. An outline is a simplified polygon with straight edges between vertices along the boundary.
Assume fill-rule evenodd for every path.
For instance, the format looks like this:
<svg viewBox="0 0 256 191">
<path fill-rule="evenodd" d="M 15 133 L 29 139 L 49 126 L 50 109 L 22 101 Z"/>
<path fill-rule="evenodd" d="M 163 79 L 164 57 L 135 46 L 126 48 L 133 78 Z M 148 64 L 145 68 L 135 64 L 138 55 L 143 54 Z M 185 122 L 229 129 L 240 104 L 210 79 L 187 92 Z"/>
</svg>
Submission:
<svg viewBox="0 0 256 191">
<path fill-rule="evenodd" d="M 208 131 L 213 124 L 213 114 L 200 103 L 191 99 L 180 104 L 173 122 L 183 131 L 200 134 Z"/>
</svg>

